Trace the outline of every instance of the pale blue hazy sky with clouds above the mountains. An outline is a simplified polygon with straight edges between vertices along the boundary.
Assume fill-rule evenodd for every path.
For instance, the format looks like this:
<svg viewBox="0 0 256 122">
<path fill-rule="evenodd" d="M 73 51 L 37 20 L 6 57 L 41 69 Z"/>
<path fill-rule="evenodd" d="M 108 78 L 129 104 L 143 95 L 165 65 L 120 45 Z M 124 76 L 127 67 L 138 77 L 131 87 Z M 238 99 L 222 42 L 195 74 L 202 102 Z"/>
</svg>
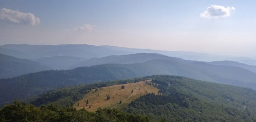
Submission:
<svg viewBox="0 0 256 122">
<path fill-rule="evenodd" d="M 255 0 L 0 0 L 0 45 L 113 45 L 255 58 L 255 5 Z"/>
</svg>

